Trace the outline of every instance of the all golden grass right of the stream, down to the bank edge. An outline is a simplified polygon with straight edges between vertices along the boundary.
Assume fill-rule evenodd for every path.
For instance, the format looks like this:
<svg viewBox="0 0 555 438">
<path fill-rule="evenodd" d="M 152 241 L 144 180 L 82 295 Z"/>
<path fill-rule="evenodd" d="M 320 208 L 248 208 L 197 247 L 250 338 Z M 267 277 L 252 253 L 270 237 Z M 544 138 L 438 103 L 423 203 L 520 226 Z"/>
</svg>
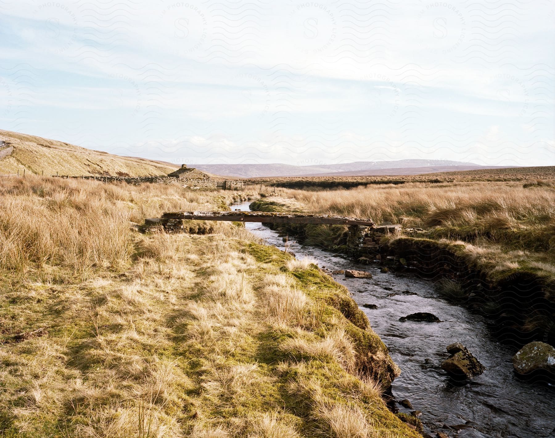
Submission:
<svg viewBox="0 0 555 438">
<path fill-rule="evenodd" d="M 530 271 L 546 278 L 555 269 L 555 204 L 552 180 L 534 184 L 467 182 L 406 183 L 354 189 L 281 189 L 276 201 L 284 211 L 371 218 L 376 223 L 400 223 L 423 228 L 423 238 L 460 245 L 467 260 L 496 278 L 514 271 Z M 260 204 L 260 203 L 259 203 Z M 299 208 L 299 204 L 301 207 Z M 260 205 L 260 208 L 263 208 Z M 306 241 L 341 250 L 344 228 L 306 228 Z M 327 234 L 332 232 L 332 236 Z M 319 234 L 326 235 L 325 239 Z M 402 237 L 402 235 L 397 236 Z M 390 236 L 386 240 L 395 240 Z"/>
</svg>

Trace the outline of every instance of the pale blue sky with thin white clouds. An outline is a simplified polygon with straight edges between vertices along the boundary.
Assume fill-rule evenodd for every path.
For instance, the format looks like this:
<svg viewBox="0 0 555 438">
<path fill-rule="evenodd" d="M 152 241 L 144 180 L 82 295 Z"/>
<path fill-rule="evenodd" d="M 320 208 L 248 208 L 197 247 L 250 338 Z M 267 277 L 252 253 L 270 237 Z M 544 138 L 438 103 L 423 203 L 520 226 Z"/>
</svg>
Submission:
<svg viewBox="0 0 555 438">
<path fill-rule="evenodd" d="M 555 3 L 0 0 L 0 128 L 176 164 L 555 165 Z"/>
</svg>

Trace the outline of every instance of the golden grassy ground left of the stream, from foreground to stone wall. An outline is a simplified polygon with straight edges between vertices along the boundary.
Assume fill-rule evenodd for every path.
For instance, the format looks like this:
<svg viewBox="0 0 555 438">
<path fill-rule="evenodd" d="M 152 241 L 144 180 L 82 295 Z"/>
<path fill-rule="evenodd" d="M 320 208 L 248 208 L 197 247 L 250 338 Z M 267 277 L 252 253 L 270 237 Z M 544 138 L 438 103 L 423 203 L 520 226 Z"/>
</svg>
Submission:
<svg viewBox="0 0 555 438">
<path fill-rule="evenodd" d="M 129 228 L 239 195 L 3 180 L 0 436 L 420 436 L 381 399 L 386 346 L 310 260 L 230 223 Z"/>
</svg>

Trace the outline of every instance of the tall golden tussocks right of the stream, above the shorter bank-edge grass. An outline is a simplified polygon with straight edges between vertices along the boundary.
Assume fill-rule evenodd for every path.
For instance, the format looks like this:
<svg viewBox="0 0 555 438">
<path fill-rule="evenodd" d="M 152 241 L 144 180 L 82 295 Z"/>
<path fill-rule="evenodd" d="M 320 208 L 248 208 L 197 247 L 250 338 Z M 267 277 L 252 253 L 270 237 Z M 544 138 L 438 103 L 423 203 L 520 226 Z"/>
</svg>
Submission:
<svg viewBox="0 0 555 438">
<path fill-rule="evenodd" d="M 377 223 L 390 221 L 406 228 L 433 228 L 438 237 L 465 241 L 485 238 L 527 250 L 550 250 L 555 242 L 554 192 L 547 184 L 536 190 L 506 183 L 407 183 L 286 192 L 311 212 L 372 218 Z"/>
</svg>

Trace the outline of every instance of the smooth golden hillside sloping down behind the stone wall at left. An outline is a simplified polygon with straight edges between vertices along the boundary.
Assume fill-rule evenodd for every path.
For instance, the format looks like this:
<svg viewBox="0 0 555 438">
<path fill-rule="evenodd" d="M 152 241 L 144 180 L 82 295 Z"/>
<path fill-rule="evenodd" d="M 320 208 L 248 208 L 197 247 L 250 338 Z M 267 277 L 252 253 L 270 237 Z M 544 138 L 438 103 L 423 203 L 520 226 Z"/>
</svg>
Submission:
<svg viewBox="0 0 555 438">
<path fill-rule="evenodd" d="M 13 146 L 13 153 L 0 159 L 0 175 L 120 175 L 130 177 L 165 175 L 175 167 L 143 158 L 119 157 L 33 135 L 0 130 L 0 140 Z"/>
</svg>

